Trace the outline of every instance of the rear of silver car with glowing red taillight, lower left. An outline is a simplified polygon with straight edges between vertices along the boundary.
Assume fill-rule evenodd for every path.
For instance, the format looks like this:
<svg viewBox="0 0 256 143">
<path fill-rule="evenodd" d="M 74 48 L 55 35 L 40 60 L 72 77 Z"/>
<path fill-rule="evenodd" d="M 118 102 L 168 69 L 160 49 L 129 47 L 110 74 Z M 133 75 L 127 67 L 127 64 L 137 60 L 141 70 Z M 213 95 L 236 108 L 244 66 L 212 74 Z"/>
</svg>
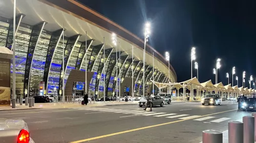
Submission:
<svg viewBox="0 0 256 143">
<path fill-rule="evenodd" d="M 27 123 L 20 119 L 0 118 L 0 140 L 8 143 L 35 143 L 30 137 Z"/>
</svg>

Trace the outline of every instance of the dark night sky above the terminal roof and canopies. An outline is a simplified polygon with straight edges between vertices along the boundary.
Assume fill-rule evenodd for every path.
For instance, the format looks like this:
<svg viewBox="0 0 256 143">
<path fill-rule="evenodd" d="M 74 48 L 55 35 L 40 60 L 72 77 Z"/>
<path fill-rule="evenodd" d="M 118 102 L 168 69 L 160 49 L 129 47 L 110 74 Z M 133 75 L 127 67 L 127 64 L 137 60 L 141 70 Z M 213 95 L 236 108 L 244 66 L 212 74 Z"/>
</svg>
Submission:
<svg viewBox="0 0 256 143">
<path fill-rule="evenodd" d="M 149 44 L 164 55 L 170 52 L 170 64 L 178 81 L 190 78 L 190 51 L 196 47 L 199 81 L 211 79 L 212 69 L 221 59 L 218 81 L 232 82 L 232 67 L 242 86 L 242 72 L 256 76 L 256 1 L 244 0 L 79 0 L 84 5 L 123 26 L 143 39 L 145 21 L 152 23 Z M 196 70 L 193 63 L 193 77 Z"/>
</svg>

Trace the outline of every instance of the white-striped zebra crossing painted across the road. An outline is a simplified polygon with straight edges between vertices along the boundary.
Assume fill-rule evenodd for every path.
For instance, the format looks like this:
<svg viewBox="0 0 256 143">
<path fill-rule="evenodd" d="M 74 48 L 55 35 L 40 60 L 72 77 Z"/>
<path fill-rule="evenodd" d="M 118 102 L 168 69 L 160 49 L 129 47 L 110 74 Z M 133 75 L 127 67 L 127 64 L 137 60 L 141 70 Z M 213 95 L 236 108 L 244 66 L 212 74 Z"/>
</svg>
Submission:
<svg viewBox="0 0 256 143">
<path fill-rule="evenodd" d="M 178 114 L 178 113 L 167 113 L 167 112 L 154 112 L 154 111 L 138 111 L 138 110 L 123 110 L 123 109 L 114 109 L 114 108 L 96 108 L 96 107 L 77 107 L 72 109 L 79 110 L 93 110 L 99 112 L 114 112 L 114 113 L 123 113 L 123 114 L 132 114 L 137 116 L 153 116 L 153 117 L 162 117 L 169 119 L 181 119 L 181 120 L 194 120 L 210 123 L 221 123 L 223 121 L 228 121 L 231 118 L 220 118 L 214 116 L 199 116 L 199 115 L 187 115 L 187 114 Z"/>
</svg>

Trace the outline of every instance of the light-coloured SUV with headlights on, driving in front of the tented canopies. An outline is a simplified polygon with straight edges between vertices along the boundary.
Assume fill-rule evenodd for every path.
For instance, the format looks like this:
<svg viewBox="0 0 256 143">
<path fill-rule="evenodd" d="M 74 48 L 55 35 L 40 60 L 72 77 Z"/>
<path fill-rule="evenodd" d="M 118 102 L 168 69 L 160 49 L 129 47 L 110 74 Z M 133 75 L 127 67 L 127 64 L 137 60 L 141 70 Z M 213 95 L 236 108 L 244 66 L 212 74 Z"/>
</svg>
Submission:
<svg viewBox="0 0 256 143">
<path fill-rule="evenodd" d="M 218 94 L 208 94 L 201 100 L 202 105 L 208 104 L 208 105 L 216 105 L 221 104 L 221 98 Z"/>
</svg>

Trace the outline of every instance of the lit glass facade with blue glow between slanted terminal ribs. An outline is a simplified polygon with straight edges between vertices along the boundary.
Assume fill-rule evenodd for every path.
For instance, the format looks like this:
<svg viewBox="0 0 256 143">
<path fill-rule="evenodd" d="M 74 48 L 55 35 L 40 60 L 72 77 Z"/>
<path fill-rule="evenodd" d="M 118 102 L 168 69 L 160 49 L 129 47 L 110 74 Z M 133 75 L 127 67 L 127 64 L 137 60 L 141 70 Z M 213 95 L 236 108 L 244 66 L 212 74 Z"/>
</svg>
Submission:
<svg viewBox="0 0 256 143">
<path fill-rule="evenodd" d="M 47 25 L 44 21 L 33 26 L 18 23 L 23 17 L 24 15 L 22 14 L 16 17 L 15 33 L 13 32 L 12 20 L 7 22 L 7 18 L 0 17 L 0 46 L 12 49 L 13 34 L 16 35 L 15 70 L 16 94 L 18 96 L 37 95 L 40 81 L 45 82 L 45 94 L 55 93 L 54 89 L 56 88 L 56 94 L 61 95 L 62 79 L 64 78 L 66 83 L 72 69 L 85 71 L 86 67 L 88 71 L 94 72 L 89 83 L 90 95 L 103 96 L 104 78 L 106 95 L 113 95 L 116 90 L 116 84 L 122 82 L 125 77 L 132 77 L 133 70 L 134 79 L 136 79 L 134 86 L 136 95 L 142 94 L 140 92 L 143 82 L 142 61 L 138 61 L 135 58 L 132 59 L 131 55 L 122 54 L 123 51 L 120 51 L 122 55 L 119 63 L 119 51 L 116 53 L 115 48 L 105 49 L 105 59 L 103 59 L 103 44 L 97 42 L 98 44 L 96 45 L 93 39 L 79 41 L 80 35 L 64 36 L 64 39 L 62 39 L 62 28 L 49 32 L 44 30 L 44 26 Z M 64 65 L 62 65 L 63 54 Z M 118 58 L 117 63 L 116 56 Z M 116 64 L 118 70 L 116 69 Z M 103 73 L 103 65 L 105 65 L 105 75 Z M 62 71 L 62 66 L 65 68 L 64 71 Z M 13 66 L 11 64 L 11 72 L 12 69 Z M 65 77 L 63 77 L 64 72 Z M 160 76 L 157 69 L 154 74 L 158 81 L 165 77 L 163 74 Z M 120 79 L 116 78 L 116 75 L 120 75 Z M 145 75 L 147 89 L 153 75 L 152 67 L 146 66 Z M 77 85 L 79 85 L 79 89 L 84 88 L 84 82 L 77 83 Z"/>
</svg>

